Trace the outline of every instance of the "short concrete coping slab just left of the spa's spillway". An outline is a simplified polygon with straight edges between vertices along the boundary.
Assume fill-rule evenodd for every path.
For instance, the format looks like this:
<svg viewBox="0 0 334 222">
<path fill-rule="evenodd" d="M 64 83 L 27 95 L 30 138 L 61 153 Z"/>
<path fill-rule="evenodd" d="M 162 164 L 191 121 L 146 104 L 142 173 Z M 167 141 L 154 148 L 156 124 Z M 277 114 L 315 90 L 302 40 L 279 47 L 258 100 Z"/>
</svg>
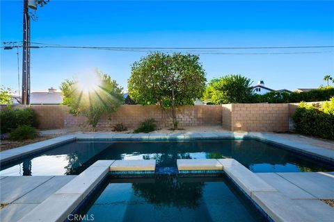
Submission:
<svg viewBox="0 0 334 222">
<path fill-rule="evenodd" d="M 154 171 L 155 160 L 116 160 L 110 171 Z"/>
</svg>

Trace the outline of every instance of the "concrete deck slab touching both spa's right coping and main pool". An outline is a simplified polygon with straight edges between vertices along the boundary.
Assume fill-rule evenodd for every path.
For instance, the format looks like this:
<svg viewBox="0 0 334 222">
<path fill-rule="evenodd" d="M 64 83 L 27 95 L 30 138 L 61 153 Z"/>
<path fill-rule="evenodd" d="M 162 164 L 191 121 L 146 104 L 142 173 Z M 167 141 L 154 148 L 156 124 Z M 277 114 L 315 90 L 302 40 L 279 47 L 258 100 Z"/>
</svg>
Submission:
<svg viewBox="0 0 334 222">
<path fill-rule="evenodd" d="M 275 189 L 278 189 L 278 191 L 280 191 L 282 194 L 291 199 L 301 199 L 301 198 L 316 199 L 315 196 L 308 194 L 308 192 L 305 192 L 300 187 L 297 187 L 296 185 L 285 180 L 281 176 L 278 176 L 278 174 L 276 173 L 255 173 L 255 174 L 260 178 L 262 178 L 262 180 L 267 182 L 269 185 L 271 185 Z"/>
</svg>

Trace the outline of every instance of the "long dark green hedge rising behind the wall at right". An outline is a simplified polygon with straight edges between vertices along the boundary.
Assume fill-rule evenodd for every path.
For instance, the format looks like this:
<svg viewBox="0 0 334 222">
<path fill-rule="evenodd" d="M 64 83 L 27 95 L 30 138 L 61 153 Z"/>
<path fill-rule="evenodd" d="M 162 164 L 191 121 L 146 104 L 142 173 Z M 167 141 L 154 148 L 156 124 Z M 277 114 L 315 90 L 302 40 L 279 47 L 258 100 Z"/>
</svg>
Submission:
<svg viewBox="0 0 334 222">
<path fill-rule="evenodd" d="M 334 96 L 334 87 L 312 89 L 308 92 L 268 92 L 263 95 L 253 94 L 253 103 L 300 103 L 328 101 Z"/>
</svg>

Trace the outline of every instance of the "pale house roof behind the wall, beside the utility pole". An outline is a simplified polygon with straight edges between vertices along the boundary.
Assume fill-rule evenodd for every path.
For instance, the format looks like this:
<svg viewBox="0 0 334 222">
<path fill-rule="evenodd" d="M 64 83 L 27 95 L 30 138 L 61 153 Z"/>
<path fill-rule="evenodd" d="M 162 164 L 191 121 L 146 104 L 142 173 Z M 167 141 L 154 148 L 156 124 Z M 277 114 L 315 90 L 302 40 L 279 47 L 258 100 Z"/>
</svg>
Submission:
<svg viewBox="0 0 334 222">
<path fill-rule="evenodd" d="M 61 92 L 31 92 L 30 104 L 61 104 L 63 96 Z"/>
</svg>

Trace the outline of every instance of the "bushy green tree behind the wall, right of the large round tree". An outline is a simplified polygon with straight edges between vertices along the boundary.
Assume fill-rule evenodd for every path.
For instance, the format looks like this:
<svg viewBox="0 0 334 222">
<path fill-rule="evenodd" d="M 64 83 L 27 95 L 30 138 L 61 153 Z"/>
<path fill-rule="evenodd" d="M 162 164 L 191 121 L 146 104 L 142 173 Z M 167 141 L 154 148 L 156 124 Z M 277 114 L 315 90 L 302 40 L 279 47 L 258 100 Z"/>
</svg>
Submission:
<svg viewBox="0 0 334 222">
<path fill-rule="evenodd" d="M 246 103 L 253 95 L 252 82 L 241 75 L 214 78 L 207 84 L 203 99 L 214 104 Z"/>
</svg>

